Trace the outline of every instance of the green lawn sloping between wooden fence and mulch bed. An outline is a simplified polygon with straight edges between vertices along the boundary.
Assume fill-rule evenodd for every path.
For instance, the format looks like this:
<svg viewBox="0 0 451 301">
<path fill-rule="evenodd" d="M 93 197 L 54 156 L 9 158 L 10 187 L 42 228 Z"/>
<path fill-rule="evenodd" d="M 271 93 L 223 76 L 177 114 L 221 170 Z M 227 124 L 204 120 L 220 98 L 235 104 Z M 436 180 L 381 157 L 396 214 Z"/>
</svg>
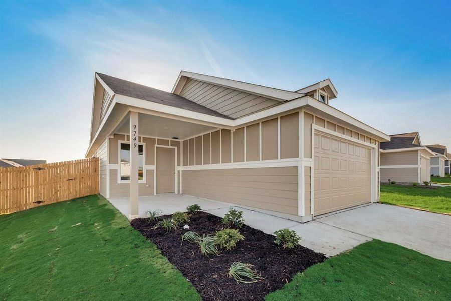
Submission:
<svg viewBox="0 0 451 301">
<path fill-rule="evenodd" d="M 199 300 L 101 196 L 0 216 L 0 299 Z"/>
</svg>

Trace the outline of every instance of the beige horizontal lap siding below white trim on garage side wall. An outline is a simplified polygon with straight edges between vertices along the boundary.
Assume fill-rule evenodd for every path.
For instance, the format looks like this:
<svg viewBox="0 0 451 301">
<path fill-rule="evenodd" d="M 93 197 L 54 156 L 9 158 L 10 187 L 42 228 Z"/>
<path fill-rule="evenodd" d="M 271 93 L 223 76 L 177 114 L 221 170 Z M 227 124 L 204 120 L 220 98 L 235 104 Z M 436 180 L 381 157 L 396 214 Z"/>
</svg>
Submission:
<svg viewBox="0 0 451 301">
<path fill-rule="evenodd" d="M 185 170 L 183 194 L 298 214 L 297 167 Z"/>
</svg>

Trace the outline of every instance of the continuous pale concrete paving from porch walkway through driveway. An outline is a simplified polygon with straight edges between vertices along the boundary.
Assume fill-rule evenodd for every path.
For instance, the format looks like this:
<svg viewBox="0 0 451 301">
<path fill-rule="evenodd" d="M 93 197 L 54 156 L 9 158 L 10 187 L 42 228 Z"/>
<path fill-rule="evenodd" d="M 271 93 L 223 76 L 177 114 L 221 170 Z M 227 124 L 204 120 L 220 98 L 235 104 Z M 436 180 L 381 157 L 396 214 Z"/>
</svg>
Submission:
<svg viewBox="0 0 451 301">
<path fill-rule="evenodd" d="M 122 214 L 128 216 L 128 198 L 109 200 Z M 160 209 L 162 214 L 186 211 L 199 204 L 202 210 L 223 217 L 230 208 L 243 211 L 245 223 L 267 234 L 289 228 L 302 240 L 300 244 L 326 256 L 334 256 L 373 238 L 392 242 L 434 258 L 451 261 L 451 216 L 371 204 L 299 223 L 267 213 L 241 208 L 229 203 L 177 194 L 140 197 L 139 212 Z"/>
</svg>

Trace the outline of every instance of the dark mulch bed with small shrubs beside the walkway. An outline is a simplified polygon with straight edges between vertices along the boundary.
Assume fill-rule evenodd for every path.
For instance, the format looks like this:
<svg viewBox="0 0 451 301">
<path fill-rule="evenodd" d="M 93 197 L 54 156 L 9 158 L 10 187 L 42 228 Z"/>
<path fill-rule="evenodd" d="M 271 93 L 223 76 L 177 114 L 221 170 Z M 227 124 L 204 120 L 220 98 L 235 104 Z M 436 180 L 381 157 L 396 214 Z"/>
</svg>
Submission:
<svg viewBox="0 0 451 301">
<path fill-rule="evenodd" d="M 197 244 L 185 241 L 181 245 L 181 236 L 188 230 L 178 229 L 166 234 L 162 228 L 154 230 L 155 223 L 140 218 L 134 219 L 131 225 L 157 245 L 204 300 L 263 300 L 269 292 L 282 288 L 296 273 L 326 259 L 325 255 L 303 246 L 284 250 L 274 243 L 273 235 L 247 225 L 240 228 L 245 240 L 235 249 L 221 250 L 220 256 L 207 258 L 200 253 Z M 215 233 L 224 225 L 221 218 L 200 212 L 191 216 L 189 227 L 190 231 L 202 235 Z M 233 262 L 254 265 L 265 279 L 251 284 L 237 283 L 226 275 Z"/>
</svg>

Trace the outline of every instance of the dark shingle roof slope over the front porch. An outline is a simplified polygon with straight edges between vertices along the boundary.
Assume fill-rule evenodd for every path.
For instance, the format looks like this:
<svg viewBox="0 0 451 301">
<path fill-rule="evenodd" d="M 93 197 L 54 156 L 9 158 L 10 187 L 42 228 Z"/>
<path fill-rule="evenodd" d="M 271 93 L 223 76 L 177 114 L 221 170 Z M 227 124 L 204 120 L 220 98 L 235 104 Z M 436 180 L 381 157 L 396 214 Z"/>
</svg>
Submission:
<svg viewBox="0 0 451 301">
<path fill-rule="evenodd" d="M 166 91 L 136 84 L 102 73 L 97 73 L 97 75 L 108 85 L 108 87 L 111 88 L 111 90 L 113 90 L 115 94 L 139 98 L 215 117 L 232 119 L 177 94 L 172 94 Z"/>
</svg>

